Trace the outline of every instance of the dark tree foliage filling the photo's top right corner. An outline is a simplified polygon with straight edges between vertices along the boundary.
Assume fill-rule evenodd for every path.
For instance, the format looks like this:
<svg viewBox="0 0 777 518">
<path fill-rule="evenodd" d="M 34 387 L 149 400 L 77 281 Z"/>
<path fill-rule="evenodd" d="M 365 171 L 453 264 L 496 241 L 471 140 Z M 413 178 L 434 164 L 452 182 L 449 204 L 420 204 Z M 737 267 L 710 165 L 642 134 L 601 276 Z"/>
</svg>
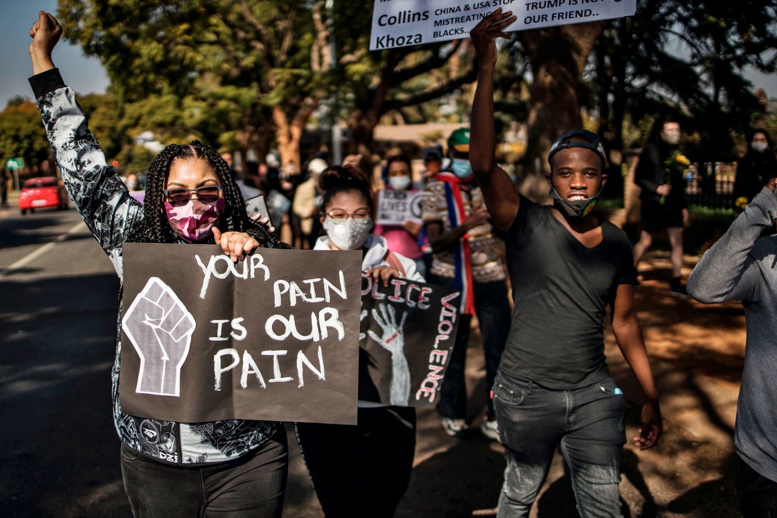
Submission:
<svg viewBox="0 0 777 518">
<path fill-rule="evenodd" d="M 677 116 L 701 135 L 699 155 L 730 158 L 732 131 L 744 132 L 764 106 L 744 78 L 747 66 L 775 71 L 777 2 L 638 2 L 598 41 L 591 88 L 600 131 L 622 148 L 623 120 Z M 637 143 L 641 144 L 641 143 Z"/>
</svg>

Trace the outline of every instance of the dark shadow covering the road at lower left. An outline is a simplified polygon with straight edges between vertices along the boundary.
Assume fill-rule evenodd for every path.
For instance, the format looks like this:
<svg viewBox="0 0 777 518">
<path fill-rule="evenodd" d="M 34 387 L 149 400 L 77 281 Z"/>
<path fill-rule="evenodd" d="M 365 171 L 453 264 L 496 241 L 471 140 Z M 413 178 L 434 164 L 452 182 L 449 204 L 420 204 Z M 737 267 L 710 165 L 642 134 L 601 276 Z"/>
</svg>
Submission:
<svg viewBox="0 0 777 518">
<path fill-rule="evenodd" d="M 3 516 L 131 516 L 113 428 L 115 275 L 0 281 Z"/>
</svg>

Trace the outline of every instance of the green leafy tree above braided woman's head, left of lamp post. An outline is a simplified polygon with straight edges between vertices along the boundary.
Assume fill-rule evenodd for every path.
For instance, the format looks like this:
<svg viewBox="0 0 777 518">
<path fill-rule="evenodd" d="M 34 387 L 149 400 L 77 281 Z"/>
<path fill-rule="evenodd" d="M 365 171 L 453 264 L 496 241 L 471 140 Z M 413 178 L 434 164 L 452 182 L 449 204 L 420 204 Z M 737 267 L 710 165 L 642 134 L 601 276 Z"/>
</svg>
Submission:
<svg viewBox="0 0 777 518">
<path fill-rule="evenodd" d="M 274 136 L 284 163 L 299 165 L 301 133 L 331 66 L 322 5 L 59 0 L 59 12 L 68 38 L 100 58 L 124 102 L 204 103 L 217 115 L 219 143 L 263 156 Z"/>
</svg>

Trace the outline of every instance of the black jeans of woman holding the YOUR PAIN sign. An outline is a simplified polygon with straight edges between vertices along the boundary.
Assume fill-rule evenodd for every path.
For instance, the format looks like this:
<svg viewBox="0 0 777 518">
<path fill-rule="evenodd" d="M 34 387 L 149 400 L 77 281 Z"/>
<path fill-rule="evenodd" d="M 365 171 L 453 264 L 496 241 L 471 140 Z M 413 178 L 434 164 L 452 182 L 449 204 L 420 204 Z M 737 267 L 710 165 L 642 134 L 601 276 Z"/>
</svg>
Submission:
<svg viewBox="0 0 777 518">
<path fill-rule="evenodd" d="M 201 468 L 152 461 L 121 445 L 121 476 L 136 518 L 280 518 L 288 471 L 284 427 L 254 454 Z"/>
</svg>

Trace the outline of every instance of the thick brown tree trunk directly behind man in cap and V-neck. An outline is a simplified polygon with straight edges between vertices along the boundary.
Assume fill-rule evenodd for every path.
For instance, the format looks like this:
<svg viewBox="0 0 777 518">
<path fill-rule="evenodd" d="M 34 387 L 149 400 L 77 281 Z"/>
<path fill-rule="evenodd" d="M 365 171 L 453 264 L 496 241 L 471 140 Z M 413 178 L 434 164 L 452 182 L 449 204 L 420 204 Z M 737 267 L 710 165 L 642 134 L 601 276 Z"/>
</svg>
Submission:
<svg viewBox="0 0 777 518">
<path fill-rule="evenodd" d="M 534 75 L 521 192 L 535 200 L 548 199 L 542 176 L 550 172 L 546 159 L 550 144 L 564 131 L 582 127 L 583 68 L 606 25 L 583 23 L 519 33 Z"/>
</svg>

